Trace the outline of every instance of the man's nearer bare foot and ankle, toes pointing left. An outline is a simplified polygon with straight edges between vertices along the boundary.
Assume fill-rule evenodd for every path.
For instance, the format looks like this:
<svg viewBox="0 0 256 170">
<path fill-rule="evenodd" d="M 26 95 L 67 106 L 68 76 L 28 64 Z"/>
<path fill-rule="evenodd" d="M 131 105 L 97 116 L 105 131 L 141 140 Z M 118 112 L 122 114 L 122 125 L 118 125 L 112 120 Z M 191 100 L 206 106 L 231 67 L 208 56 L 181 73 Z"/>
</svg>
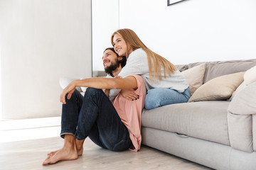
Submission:
<svg viewBox="0 0 256 170">
<path fill-rule="evenodd" d="M 58 161 L 75 159 L 78 159 L 78 152 L 75 146 L 75 137 L 73 137 L 73 135 L 67 135 L 67 137 L 65 136 L 64 147 L 58 151 L 50 152 L 46 160 L 43 162 L 43 165 L 55 164 Z"/>
</svg>

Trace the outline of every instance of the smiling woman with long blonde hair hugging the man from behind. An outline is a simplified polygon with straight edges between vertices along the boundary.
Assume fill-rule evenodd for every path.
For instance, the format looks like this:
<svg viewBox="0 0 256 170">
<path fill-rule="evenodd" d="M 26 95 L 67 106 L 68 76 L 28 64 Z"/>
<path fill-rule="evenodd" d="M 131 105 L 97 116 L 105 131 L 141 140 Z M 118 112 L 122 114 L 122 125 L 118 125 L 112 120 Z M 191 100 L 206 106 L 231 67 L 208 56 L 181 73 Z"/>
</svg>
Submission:
<svg viewBox="0 0 256 170">
<path fill-rule="evenodd" d="M 155 52 L 149 50 L 130 29 L 120 29 L 112 34 L 111 42 L 119 56 L 127 57 L 127 64 L 119 73 L 119 77 L 129 74 L 139 74 L 144 78 L 147 94 L 145 108 L 152 109 L 172 103 L 185 103 L 190 98 L 190 90 L 186 79 L 174 64 Z M 117 89 L 110 90 L 110 99 L 119 93 Z M 133 92 L 122 91 L 131 99 Z"/>
</svg>

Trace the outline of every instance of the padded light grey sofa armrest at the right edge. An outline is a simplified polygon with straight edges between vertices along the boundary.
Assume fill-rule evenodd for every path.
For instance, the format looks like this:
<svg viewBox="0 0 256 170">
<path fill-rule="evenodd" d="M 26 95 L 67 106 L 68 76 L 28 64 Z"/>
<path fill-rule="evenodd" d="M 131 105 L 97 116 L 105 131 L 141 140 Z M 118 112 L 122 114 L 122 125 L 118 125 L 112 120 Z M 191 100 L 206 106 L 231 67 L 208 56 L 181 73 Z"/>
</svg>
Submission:
<svg viewBox="0 0 256 170">
<path fill-rule="evenodd" d="M 228 106 L 228 136 L 231 147 L 244 152 L 255 150 L 255 116 L 256 83 L 253 83 L 239 91 Z"/>
</svg>

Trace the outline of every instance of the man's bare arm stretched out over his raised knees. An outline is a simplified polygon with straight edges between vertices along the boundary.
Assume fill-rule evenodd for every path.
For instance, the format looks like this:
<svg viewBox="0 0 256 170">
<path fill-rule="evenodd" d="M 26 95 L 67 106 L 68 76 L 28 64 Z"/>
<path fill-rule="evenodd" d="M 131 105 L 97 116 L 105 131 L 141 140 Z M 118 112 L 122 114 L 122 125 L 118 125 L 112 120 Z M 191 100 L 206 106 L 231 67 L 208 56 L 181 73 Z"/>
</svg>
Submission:
<svg viewBox="0 0 256 170">
<path fill-rule="evenodd" d="M 137 80 L 135 77 L 126 77 L 124 79 L 110 78 L 90 78 L 72 81 L 60 95 L 60 102 L 65 104 L 65 95 L 71 98 L 76 86 L 93 87 L 95 89 L 137 89 Z"/>
</svg>

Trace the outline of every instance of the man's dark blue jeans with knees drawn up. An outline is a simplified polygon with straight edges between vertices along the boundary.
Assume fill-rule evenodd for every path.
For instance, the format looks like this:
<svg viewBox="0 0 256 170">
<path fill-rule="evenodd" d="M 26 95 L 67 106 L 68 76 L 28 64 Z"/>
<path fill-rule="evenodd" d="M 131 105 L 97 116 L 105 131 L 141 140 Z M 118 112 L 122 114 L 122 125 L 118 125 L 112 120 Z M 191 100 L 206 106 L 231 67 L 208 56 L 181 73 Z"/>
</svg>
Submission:
<svg viewBox="0 0 256 170">
<path fill-rule="evenodd" d="M 60 136 L 72 134 L 78 140 L 87 136 L 92 142 L 112 151 L 129 149 L 129 131 L 110 99 L 101 89 L 87 88 L 85 96 L 75 90 L 70 100 L 66 96 L 61 117 Z"/>
</svg>

